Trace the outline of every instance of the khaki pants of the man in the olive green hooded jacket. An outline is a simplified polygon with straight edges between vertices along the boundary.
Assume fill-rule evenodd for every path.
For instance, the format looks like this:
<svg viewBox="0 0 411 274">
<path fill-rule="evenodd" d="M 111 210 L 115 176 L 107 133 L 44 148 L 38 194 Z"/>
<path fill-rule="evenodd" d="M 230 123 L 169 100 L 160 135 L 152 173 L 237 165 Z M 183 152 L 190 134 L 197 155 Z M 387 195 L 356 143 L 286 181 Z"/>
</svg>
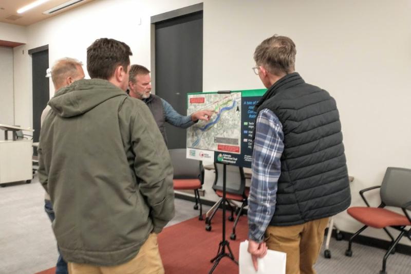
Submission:
<svg viewBox="0 0 411 274">
<path fill-rule="evenodd" d="M 116 266 L 94 266 L 68 263 L 70 274 L 164 274 L 157 243 L 157 234 L 151 233 L 140 251 L 127 263 Z"/>
</svg>

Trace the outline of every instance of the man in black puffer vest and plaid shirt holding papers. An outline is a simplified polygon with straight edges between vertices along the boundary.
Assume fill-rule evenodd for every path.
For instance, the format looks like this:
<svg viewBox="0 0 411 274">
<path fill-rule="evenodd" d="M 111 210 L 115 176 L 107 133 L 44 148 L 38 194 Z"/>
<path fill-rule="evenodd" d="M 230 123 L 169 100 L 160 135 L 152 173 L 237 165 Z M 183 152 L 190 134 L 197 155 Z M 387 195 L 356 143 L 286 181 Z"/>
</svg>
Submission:
<svg viewBox="0 0 411 274">
<path fill-rule="evenodd" d="M 311 274 L 328 217 L 351 195 L 337 105 L 294 71 L 295 54 L 277 35 L 254 52 L 268 90 L 255 106 L 248 250 L 255 268 L 269 248 L 287 253 L 287 274 Z"/>
</svg>

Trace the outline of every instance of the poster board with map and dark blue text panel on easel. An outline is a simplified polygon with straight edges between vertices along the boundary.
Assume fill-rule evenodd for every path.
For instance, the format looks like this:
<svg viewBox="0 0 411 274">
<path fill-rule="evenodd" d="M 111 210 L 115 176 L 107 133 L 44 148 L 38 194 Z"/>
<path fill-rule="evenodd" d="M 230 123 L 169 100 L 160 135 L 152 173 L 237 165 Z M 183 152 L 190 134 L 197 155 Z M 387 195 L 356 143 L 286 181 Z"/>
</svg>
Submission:
<svg viewBox="0 0 411 274">
<path fill-rule="evenodd" d="M 251 168 L 254 106 L 267 89 L 189 93 L 187 114 L 214 111 L 187 129 L 187 158 Z"/>
</svg>

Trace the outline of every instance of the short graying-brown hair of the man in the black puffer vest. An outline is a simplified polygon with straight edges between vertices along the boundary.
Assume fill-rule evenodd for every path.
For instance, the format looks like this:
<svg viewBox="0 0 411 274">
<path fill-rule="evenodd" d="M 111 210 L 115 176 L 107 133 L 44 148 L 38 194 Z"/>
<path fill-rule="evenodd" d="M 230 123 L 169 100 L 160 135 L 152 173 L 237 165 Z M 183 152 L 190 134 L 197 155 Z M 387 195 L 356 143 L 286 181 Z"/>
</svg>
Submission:
<svg viewBox="0 0 411 274">
<path fill-rule="evenodd" d="M 290 38 L 274 34 L 255 48 L 254 61 L 279 76 L 295 70 L 296 53 L 295 44 Z"/>
</svg>

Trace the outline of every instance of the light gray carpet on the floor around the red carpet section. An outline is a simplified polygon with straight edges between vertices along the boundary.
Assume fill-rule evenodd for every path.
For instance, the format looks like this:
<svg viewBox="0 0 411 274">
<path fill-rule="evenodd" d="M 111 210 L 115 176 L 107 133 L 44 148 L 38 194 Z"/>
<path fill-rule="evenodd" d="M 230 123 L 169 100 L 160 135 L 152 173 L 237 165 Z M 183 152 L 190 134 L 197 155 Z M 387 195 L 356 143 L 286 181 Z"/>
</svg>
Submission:
<svg viewBox="0 0 411 274">
<path fill-rule="evenodd" d="M 32 274 L 55 265 L 57 248 L 43 206 L 44 191 L 36 178 L 31 184 L 0 188 L 0 274 Z M 203 212 L 208 209 L 204 207 Z M 176 199 L 176 216 L 169 225 L 195 216 L 198 211 L 193 210 L 193 203 Z M 353 244 L 353 257 L 348 258 L 346 248 L 346 241 L 332 239 L 332 258 L 325 259 L 321 251 L 315 265 L 318 273 L 379 273 L 384 250 Z M 389 274 L 411 274 L 411 257 L 407 255 L 391 255 L 387 264 Z"/>
</svg>

